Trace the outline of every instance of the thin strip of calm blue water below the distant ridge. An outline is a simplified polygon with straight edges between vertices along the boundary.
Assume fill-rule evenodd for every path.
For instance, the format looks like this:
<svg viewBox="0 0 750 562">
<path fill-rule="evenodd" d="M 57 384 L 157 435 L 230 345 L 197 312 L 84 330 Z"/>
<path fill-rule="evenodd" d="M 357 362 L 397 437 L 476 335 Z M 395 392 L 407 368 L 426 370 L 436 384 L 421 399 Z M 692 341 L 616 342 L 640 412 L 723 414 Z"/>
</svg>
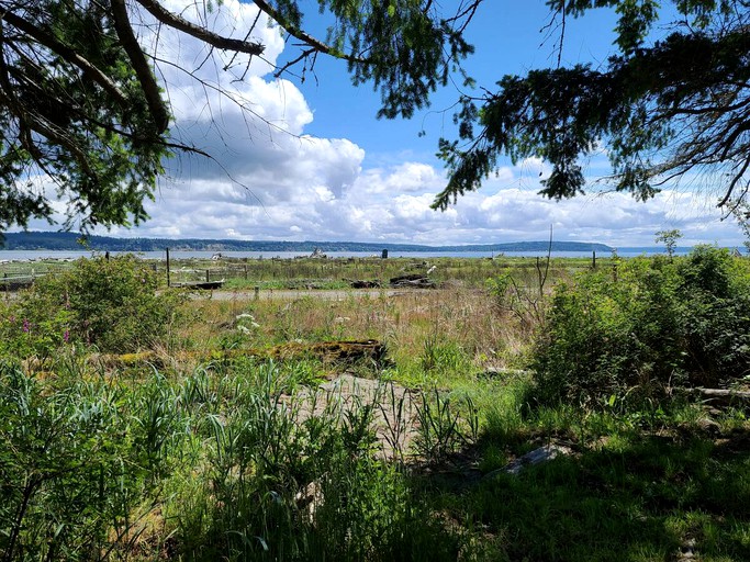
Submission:
<svg viewBox="0 0 750 562">
<path fill-rule="evenodd" d="M 676 254 L 684 255 L 687 254 L 691 248 L 678 248 Z M 653 255 L 663 254 L 663 248 L 619 248 L 617 255 L 620 257 L 634 257 L 641 255 Z M 59 250 L 0 250 L 0 262 L 13 261 L 13 260 L 38 260 L 38 259 L 59 259 L 59 260 L 70 260 L 78 258 L 89 258 L 91 256 L 102 255 L 101 251 L 59 251 Z M 126 254 L 126 252 L 111 252 Z M 136 256 L 143 259 L 157 259 L 164 260 L 167 255 L 165 251 L 141 251 L 136 252 Z M 169 252 L 172 259 L 189 259 L 189 258 L 203 258 L 208 259 L 214 255 L 213 251 L 176 251 Z M 546 256 L 546 251 L 508 251 L 505 252 L 507 257 L 537 257 Z M 222 256 L 227 258 L 282 258 L 291 259 L 296 257 L 310 256 L 310 252 L 304 251 L 222 251 Z M 367 258 L 374 256 L 370 251 L 328 251 L 326 256 L 329 258 Z M 379 256 L 379 255 L 378 255 Z M 446 257 L 457 257 L 457 258 L 492 258 L 499 256 L 497 252 L 492 251 L 391 251 L 389 250 L 390 258 L 446 258 Z M 597 252 L 597 257 L 607 258 L 608 252 Z M 553 258 L 581 258 L 591 257 L 591 251 L 553 251 Z"/>
</svg>

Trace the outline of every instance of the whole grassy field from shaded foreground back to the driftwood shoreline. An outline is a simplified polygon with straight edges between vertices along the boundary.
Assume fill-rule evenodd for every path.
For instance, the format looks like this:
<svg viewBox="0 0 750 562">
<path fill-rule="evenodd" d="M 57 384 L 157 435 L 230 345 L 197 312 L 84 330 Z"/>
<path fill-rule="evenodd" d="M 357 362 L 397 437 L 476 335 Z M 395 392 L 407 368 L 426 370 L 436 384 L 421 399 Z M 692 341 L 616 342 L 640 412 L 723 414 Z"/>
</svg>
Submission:
<svg viewBox="0 0 750 562">
<path fill-rule="evenodd" d="M 220 300 L 165 291 L 153 263 L 99 263 L 4 301 L 0 558 L 750 560 L 742 402 L 537 400 L 555 288 L 586 286 L 591 266 L 173 265 L 226 279 Z M 433 267 L 432 290 L 306 289 Z M 630 283 L 623 268 L 594 273 Z M 545 447 L 562 452 L 504 470 Z"/>
</svg>

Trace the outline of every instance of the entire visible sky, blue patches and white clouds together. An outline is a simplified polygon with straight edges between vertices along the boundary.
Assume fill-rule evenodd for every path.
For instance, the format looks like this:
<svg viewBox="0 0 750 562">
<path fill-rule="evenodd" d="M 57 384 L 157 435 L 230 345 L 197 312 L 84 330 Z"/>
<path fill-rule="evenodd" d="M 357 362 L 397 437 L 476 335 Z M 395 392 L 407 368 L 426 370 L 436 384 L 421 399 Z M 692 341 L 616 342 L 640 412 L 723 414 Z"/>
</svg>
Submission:
<svg viewBox="0 0 750 562">
<path fill-rule="evenodd" d="M 163 2 L 187 18 L 203 18 L 190 0 Z M 301 4 L 316 11 L 317 2 Z M 443 2 L 446 11 L 455 4 Z M 256 15 L 251 2 L 224 0 L 208 23 L 244 36 Z M 555 65 L 559 34 L 541 31 L 549 19 L 542 0 L 485 0 L 467 34 L 477 47 L 464 63 L 468 74 L 492 89 L 505 74 Z M 568 21 L 562 63 L 606 60 L 615 22 L 612 12 L 602 10 Z M 615 247 L 652 245 L 654 233 L 668 228 L 680 228 L 685 244 L 741 244 L 739 228 L 720 221 L 710 180 L 702 180 L 701 190 L 669 187 L 645 204 L 596 189 L 557 203 L 537 195 L 546 167 L 534 159 L 502 162 L 480 191 L 447 212 L 432 211 L 429 203 L 445 184 L 443 164 L 435 157 L 437 140 L 455 136 L 450 106 L 458 98 L 456 87 L 436 92 L 432 106 L 410 121 L 379 121 L 379 94 L 368 86 L 352 87 L 340 61 L 318 57 L 317 80 L 309 76 L 304 83 L 294 77 L 275 79 L 257 59 L 247 72 L 237 64 L 222 74 L 214 65 L 200 65 L 205 52 L 197 42 L 164 30 L 156 35 L 147 16 L 143 23 L 145 50 L 178 59 L 225 92 L 205 90 L 175 68 L 161 69 L 175 135 L 208 149 L 221 167 L 197 157 L 170 162 L 148 205 L 152 220 L 110 234 L 439 245 L 546 239 L 552 225 L 556 239 Z M 324 35 L 318 18 L 309 24 Z M 265 25 L 262 16 L 255 35 L 267 45 L 269 60 L 293 56 L 280 31 Z M 219 56 L 221 66 L 226 59 Z M 244 100 L 249 112 L 227 95 Z M 591 160 L 586 173 L 595 179 L 606 170 L 602 156 Z M 45 178 L 37 181 L 48 184 Z M 48 228 L 43 223 L 31 227 Z"/>
</svg>

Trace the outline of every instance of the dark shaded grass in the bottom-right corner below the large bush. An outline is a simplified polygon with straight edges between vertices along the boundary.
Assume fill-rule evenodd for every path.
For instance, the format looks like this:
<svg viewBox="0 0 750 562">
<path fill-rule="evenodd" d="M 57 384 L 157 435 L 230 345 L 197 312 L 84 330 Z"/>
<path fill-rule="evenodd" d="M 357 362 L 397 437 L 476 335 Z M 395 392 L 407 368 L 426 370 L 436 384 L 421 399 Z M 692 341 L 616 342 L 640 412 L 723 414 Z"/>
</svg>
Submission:
<svg viewBox="0 0 750 562">
<path fill-rule="evenodd" d="M 506 560 L 750 560 L 748 429 L 613 437 L 518 476 L 449 487 L 444 505 Z"/>
</svg>

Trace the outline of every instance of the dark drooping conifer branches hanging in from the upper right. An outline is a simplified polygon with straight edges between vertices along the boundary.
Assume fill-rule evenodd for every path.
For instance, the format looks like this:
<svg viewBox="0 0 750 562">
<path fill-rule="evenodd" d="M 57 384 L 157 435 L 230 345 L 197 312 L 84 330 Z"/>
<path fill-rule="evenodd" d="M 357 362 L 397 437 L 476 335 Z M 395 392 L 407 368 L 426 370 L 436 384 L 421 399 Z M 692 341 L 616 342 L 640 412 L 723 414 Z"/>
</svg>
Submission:
<svg viewBox="0 0 750 562">
<path fill-rule="evenodd" d="M 719 205 L 736 204 L 750 180 L 750 2 L 745 0 L 548 0 L 567 18 L 615 9 L 616 49 L 591 65 L 505 76 L 495 91 L 464 95 L 458 140 L 443 139 L 450 170 L 434 207 L 480 187 L 501 156 L 544 158 L 541 193 L 583 193 L 582 161 L 605 148 L 608 183 L 639 200 L 685 175 L 707 176 Z M 663 38 L 650 41 L 654 32 Z"/>
</svg>

